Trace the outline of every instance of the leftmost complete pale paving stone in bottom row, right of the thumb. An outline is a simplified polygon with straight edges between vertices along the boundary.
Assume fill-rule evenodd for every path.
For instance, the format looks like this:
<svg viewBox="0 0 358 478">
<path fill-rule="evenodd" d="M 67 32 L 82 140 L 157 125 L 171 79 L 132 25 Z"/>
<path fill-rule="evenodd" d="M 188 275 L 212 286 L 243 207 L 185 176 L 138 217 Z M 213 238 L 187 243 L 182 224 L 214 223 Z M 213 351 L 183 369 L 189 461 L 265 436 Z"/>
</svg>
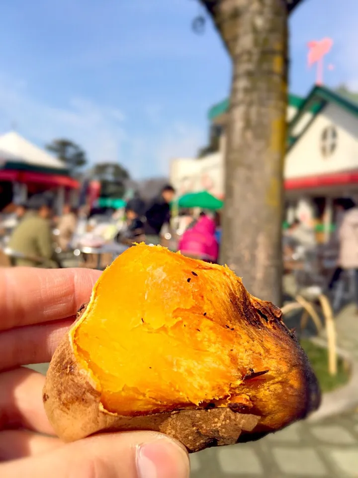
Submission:
<svg viewBox="0 0 358 478">
<path fill-rule="evenodd" d="M 225 473 L 235 476 L 261 475 L 263 467 L 258 454 L 245 445 L 233 445 L 218 449 L 220 468 Z M 218 477 L 219 478 L 219 477 Z"/>
</svg>

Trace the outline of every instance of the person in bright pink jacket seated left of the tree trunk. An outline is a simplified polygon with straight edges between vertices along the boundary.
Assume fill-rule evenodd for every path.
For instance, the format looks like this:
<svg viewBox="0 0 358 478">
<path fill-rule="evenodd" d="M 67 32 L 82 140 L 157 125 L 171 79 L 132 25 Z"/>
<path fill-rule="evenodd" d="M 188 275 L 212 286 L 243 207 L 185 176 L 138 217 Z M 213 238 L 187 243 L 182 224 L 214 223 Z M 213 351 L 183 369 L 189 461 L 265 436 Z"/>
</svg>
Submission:
<svg viewBox="0 0 358 478">
<path fill-rule="evenodd" d="M 179 250 L 184 255 L 194 256 L 212 262 L 218 258 L 219 246 L 215 239 L 216 225 L 213 219 L 201 214 L 179 240 Z"/>
</svg>

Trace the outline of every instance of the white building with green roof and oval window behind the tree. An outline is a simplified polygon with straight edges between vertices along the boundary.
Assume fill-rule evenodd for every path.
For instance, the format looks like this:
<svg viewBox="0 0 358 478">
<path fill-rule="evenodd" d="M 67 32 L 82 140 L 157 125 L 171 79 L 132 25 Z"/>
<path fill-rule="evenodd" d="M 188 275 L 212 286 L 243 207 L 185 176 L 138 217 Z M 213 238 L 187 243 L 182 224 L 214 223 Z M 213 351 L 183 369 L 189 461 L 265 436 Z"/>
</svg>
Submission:
<svg viewBox="0 0 358 478">
<path fill-rule="evenodd" d="M 314 86 L 306 98 L 289 94 L 285 190 L 288 210 L 302 220 L 332 216 L 332 199 L 358 199 L 358 103 L 354 94 Z M 180 193 L 208 190 L 224 198 L 225 124 L 228 100 L 208 111 L 209 147 L 200 159 L 172 164 L 172 183 Z M 328 209 L 327 209 L 328 207 Z"/>
</svg>

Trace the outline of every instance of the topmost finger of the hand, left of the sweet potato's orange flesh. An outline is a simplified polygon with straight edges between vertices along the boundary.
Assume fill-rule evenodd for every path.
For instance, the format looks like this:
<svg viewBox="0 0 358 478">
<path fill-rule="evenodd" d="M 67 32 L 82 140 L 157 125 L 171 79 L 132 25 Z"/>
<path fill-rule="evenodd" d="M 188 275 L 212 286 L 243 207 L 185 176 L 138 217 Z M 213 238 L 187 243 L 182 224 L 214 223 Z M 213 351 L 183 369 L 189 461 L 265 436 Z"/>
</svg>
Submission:
<svg viewBox="0 0 358 478">
<path fill-rule="evenodd" d="M 76 314 L 99 275 L 91 269 L 3 268 L 0 331 Z"/>
</svg>

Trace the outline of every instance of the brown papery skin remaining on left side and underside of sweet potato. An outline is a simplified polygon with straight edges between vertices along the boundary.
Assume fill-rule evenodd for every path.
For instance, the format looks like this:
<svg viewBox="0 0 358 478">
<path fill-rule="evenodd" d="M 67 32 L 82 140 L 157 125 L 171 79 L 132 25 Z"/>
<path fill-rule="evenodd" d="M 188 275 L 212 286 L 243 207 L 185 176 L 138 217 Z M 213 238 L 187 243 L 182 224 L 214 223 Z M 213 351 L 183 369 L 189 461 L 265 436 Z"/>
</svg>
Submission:
<svg viewBox="0 0 358 478">
<path fill-rule="evenodd" d="M 179 440 L 189 452 L 231 445 L 241 431 L 252 431 L 259 417 L 229 408 L 180 410 L 136 417 L 102 411 L 100 394 L 78 368 L 68 336 L 57 349 L 46 376 L 43 402 L 56 433 L 64 441 L 98 431 L 153 430 Z"/>
</svg>

